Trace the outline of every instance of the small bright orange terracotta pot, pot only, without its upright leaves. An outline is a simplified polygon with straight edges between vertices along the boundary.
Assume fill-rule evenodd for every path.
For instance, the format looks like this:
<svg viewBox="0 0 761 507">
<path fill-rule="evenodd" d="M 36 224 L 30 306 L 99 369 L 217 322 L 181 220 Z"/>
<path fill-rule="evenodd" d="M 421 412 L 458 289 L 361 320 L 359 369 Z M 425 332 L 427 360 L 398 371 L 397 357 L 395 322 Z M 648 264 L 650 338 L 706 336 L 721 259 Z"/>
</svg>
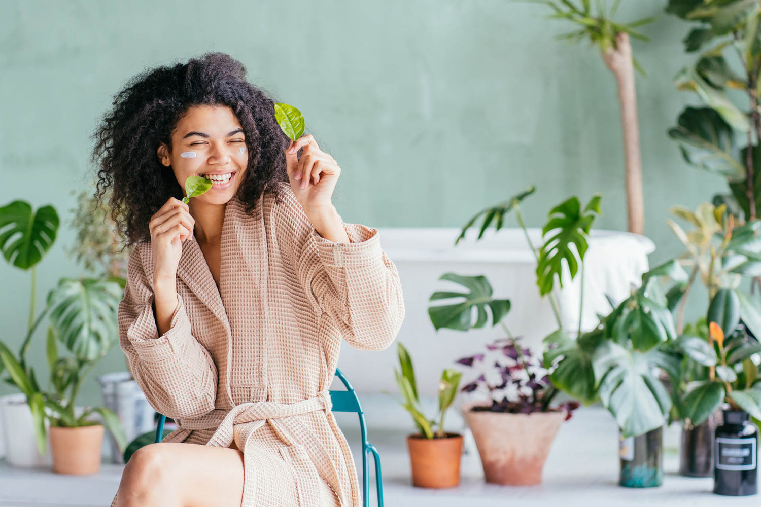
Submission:
<svg viewBox="0 0 761 507">
<path fill-rule="evenodd" d="M 407 436 L 412 486 L 451 488 L 460 483 L 460 456 L 463 436 L 447 433 L 443 439 L 426 439 L 420 434 Z"/>
</svg>

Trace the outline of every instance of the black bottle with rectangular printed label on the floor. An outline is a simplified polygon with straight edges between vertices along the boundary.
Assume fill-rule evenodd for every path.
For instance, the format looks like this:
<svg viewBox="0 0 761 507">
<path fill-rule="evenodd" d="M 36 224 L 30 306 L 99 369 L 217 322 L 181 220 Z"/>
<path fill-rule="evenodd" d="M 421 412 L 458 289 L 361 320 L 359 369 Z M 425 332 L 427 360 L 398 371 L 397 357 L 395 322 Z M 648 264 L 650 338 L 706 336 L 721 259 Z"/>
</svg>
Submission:
<svg viewBox="0 0 761 507">
<path fill-rule="evenodd" d="M 724 424 L 714 441 L 714 493 L 747 496 L 758 493 L 759 429 L 743 410 L 724 410 Z"/>
</svg>

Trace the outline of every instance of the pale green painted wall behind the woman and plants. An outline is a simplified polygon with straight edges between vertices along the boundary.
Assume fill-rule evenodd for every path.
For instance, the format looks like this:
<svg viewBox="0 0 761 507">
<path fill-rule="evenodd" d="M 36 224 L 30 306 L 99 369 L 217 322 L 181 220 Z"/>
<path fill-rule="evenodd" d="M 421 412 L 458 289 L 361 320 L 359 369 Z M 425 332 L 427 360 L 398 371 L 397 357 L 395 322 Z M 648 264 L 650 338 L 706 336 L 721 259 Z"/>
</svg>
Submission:
<svg viewBox="0 0 761 507">
<path fill-rule="evenodd" d="M 683 22 L 664 1 L 623 2 L 620 19 L 658 16 L 635 42 L 648 78 L 637 94 L 647 233 L 654 260 L 678 251 L 664 226 L 724 183 L 682 162 L 666 130 L 693 97 L 673 74 L 691 60 Z M 0 0 L 0 204 L 52 203 L 68 221 L 72 189 L 88 182 L 88 136 L 113 93 L 148 66 L 209 50 L 247 65 L 250 80 L 301 108 L 339 161 L 336 207 L 347 222 L 455 227 L 527 185 L 530 226 L 549 204 L 602 191 L 599 227 L 626 228 L 621 132 L 612 75 L 591 47 L 538 5 L 508 0 L 380 2 L 38 2 Z M 65 227 L 38 268 L 38 309 L 62 275 Z M 29 275 L 0 265 L 3 331 L 24 334 Z M 42 334 L 38 338 L 42 338 Z M 33 345 L 43 363 L 43 340 Z M 123 369 L 118 347 L 96 374 Z M 8 391 L 5 386 L 0 392 Z M 81 401 L 99 401 L 94 380 Z"/>
</svg>

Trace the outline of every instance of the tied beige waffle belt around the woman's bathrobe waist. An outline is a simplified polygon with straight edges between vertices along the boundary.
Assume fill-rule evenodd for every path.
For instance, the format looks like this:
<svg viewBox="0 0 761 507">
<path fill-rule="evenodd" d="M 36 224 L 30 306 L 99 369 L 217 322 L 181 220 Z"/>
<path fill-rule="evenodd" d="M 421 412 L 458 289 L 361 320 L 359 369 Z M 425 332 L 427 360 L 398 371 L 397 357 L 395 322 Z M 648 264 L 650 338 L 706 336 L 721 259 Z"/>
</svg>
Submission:
<svg viewBox="0 0 761 507">
<path fill-rule="evenodd" d="M 209 418 L 202 417 L 196 420 L 183 419 L 178 426 L 181 429 L 214 429 L 215 433 L 206 445 L 215 445 L 216 447 L 230 447 L 234 439 L 233 426 L 236 424 L 251 424 L 253 427 L 247 428 L 248 435 L 252 435 L 256 429 L 259 429 L 266 421 L 272 425 L 275 432 L 285 445 L 304 445 L 307 455 L 317 467 L 320 477 L 333 489 L 333 493 L 339 499 L 341 505 L 344 499 L 341 490 L 339 475 L 336 471 L 333 459 L 330 458 L 325 445 L 314 432 L 301 420 L 302 414 L 324 410 L 325 414 L 330 413 L 333 403 L 330 401 L 328 391 L 319 391 L 313 398 L 307 398 L 296 403 L 277 403 L 275 401 L 247 401 L 233 407 L 228 414 L 222 417 Z M 246 439 L 248 442 L 248 439 Z M 244 454 L 248 451 L 245 449 Z M 247 473 L 256 473 L 256 471 L 247 470 Z"/>
</svg>

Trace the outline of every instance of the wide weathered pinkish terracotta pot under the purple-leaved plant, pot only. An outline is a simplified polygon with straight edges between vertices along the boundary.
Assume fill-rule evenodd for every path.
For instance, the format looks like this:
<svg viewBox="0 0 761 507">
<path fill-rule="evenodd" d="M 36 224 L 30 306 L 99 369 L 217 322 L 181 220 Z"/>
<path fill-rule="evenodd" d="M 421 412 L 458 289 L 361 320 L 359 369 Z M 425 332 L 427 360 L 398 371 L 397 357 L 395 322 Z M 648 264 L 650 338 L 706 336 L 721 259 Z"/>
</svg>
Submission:
<svg viewBox="0 0 761 507">
<path fill-rule="evenodd" d="M 506 414 L 463 407 L 481 456 L 486 482 L 530 486 L 542 482 L 544 462 L 565 411 Z"/>
</svg>

